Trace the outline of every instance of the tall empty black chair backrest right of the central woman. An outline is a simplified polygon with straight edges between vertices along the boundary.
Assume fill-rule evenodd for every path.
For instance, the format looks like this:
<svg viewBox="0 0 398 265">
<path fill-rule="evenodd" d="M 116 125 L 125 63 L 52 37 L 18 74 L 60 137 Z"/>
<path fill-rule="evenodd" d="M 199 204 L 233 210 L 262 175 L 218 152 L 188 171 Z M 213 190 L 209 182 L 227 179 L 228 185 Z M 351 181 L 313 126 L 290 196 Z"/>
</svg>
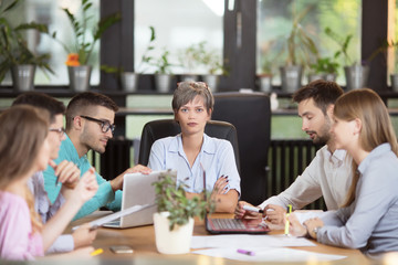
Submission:
<svg viewBox="0 0 398 265">
<path fill-rule="evenodd" d="M 268 151 L 271 144 L 270 97 L 264 93 L 214 94 L 212 118 L 232 124 L 238 131 L 241 200 L 263 202 L 268 189 Z"/>
</svg>

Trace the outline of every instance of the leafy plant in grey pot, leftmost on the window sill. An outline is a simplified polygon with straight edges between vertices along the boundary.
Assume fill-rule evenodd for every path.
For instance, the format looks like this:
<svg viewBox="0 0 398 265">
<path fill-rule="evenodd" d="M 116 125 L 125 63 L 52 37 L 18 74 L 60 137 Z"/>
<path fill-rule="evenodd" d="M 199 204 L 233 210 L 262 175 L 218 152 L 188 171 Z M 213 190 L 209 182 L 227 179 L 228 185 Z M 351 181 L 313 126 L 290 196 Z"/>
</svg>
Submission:
<svg viewBox="0 0 398 265">
<path fill-rule="evenodd" d="M 21 31 L 34 29 L 43 33 L 49 33 L 46 25 L 35 22 L 22 23 L 15 28 L 11 26 L 7 20 L 7 13 L 12 11 L 19 0 L 12 1 L 2 8 L 0 4 L 0 83 L 7 72 L 11 70 L 12 84 L 17 91 L 33 89 L 35 66 L 41 67 L 44 73 L 54 74 L 49 65 L 50 54 L 36 55 L 30 51 L 27 40 Z"/>
</svg>

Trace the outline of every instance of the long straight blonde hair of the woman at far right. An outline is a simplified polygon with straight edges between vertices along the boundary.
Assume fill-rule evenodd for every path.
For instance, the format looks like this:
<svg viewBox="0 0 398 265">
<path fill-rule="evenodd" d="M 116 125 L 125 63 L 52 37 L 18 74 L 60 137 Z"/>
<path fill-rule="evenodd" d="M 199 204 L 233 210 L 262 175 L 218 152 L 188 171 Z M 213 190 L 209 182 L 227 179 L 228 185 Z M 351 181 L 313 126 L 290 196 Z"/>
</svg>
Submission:
<svg viewBox="0 0 398 265">
<path fill-rule="evenodd" d="M 360 119 L 359 145 L 365 151 L 371 151 L 377 146 L 388 142 L 391 150 L 398 155 L 397 137 L 387 107 L 374 91 L 363 88 L 344 94 L 336 100 L 333 115 L 346 121 Z M 353 184 L 344 206 L 348 206 L 355 199 L 359 178 L 357 168 L 358 165 L 353 160 Z"/>
</svg>

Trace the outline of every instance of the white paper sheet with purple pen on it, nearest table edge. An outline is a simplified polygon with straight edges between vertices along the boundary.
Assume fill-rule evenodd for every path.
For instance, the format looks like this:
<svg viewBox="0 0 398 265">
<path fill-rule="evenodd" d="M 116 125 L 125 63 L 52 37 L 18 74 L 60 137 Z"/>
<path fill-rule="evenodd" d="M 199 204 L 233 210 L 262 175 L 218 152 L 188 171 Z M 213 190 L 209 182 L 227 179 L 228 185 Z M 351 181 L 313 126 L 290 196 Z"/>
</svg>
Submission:
<svg viewBox="0 0 398 265">
<path fill-rule="evenodd" d="M 321 254 L 316 252 L 292 250 L 286 247 L 245 247 L 245 250 L 250 250 L 252 254 L 241 254 L 238 252 L 238 248 L 233 247 L 208 248 L 195 251 L 192 253 L 213 257 L 224 257 L 242 262 L 326 262 L 342 259 L 346 257 L 342 255 Z"/>
</svg>

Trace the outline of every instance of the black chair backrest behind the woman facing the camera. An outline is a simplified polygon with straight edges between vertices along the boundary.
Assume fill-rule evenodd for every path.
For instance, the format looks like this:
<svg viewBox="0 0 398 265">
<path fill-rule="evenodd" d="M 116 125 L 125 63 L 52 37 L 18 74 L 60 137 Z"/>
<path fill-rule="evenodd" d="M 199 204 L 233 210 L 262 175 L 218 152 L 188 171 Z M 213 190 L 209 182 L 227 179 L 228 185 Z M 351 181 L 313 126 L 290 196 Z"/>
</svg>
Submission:
<svg viewBox="0 0 398 265">
<path fill-rule="evenodd" d="M 143 128 L 138 162 L 148 165 L 150 148 L 157 139 L 176 136 L 179 132 L 181 132 L 180 126 L 174 119 L 158 119 L 147 123 Z M 240 172 L 238 136 L 233 125 L 226 121 L 210 120 L 206 125 L 205 132 L 210 137 L 226 139 L 231 142 L 238 171 Z"/>
</svg>

